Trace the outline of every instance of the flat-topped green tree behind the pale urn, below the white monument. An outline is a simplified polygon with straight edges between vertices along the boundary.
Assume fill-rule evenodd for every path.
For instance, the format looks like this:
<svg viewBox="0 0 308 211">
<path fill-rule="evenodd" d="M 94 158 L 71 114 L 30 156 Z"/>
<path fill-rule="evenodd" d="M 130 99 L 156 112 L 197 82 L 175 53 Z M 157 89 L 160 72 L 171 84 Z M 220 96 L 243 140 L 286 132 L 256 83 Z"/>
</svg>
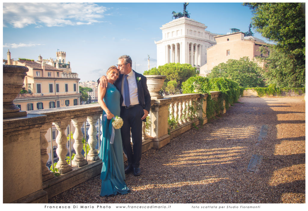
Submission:
<svg viewBox="0 0 308 211">
<path fill-rule="evenodd" d="M 182 93 L 182 83 L 189 77 L 196 75 L 196 68 L 191 64 L 167 63 L 158 68 L 144 71 L 143 75 L 166 75 L 161 91 L 165 95 Z"/>
</svg>

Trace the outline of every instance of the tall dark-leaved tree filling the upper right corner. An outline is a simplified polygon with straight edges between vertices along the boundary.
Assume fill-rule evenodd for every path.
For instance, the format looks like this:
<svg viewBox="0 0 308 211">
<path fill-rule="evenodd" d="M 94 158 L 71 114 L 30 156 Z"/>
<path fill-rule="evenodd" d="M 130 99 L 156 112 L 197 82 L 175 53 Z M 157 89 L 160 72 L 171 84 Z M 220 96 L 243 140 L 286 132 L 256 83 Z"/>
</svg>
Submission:
<svg viewBox="0 0 308 211">
<path fill-rule="evenodd" d="M 253 13 L 253 28 L 265 38 L 277 43 L 275 51 L 286 56 L 292 63 L 290 73 L 284 70 L 283 77 L 289 77 L 294 72 L 303 75 L 305 81 L 305 3 L 244 3 Z M 270 66 L 274 66 L 269 58 Z M 274 59 L 277 60 L 277 59 Z M 273 61 L 273 60 L 272 60 Z M 277 60 L 279 61 L 279 60 Z M 284 61 L 286 63 L 286 61 Z M 280 64 L 276 66 L 281 67 Z M 295 80 L 298 76 L 295 76 Z M 288 81 L 288 78 L 282 78 Z M 293 80 L 292 83 L 295 83 Z M 292 84 L 291 83 L 291 84 Z M 291 86 L 289 84 L 288 86 Z"/>
</svg>

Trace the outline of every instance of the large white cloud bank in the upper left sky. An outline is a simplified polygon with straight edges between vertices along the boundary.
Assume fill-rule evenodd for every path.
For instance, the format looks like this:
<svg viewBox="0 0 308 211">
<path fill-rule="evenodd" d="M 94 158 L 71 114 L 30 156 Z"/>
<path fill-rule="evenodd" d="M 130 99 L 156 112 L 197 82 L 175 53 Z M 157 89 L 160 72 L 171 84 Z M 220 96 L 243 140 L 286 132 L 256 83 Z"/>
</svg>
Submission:
<svg viewBox="0 0 308 211">
<path fill-rule="evenodd" d="M 3 3 L 3 26 L 65 26 L 99 23 L 107 8 L 94 3 Z"/>
</svg>

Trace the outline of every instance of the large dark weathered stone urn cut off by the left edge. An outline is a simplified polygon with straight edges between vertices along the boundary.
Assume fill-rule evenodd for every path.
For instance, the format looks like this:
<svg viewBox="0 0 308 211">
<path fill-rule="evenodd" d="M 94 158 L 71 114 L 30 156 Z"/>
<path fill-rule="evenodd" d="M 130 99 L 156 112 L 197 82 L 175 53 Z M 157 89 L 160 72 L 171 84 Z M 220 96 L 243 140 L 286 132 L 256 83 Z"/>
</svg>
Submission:
<svg viewBox="0 0 308 211">
<path fill-rule="evenodd" d="M 29 69 L 23 66 L 3 65 L 3 119 L 27 116 L 27 112 L 20 111 L 13 100 L 22 89 L 28 71 Z"/>
</svg>

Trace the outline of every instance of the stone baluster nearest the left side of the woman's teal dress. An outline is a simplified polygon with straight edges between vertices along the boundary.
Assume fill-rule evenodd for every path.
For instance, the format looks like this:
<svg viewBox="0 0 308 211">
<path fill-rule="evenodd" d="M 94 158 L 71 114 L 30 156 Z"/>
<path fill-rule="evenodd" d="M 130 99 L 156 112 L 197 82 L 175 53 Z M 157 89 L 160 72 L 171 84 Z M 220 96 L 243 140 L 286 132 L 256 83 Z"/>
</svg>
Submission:
<svg viewBox="0 0 308 211">
<path fill-rule="evenodd" d="M 98 152 L 95 149 L 95 146 L 97 144 L 97 139 L 96 139 L 97 130 L 95 128 L 95 124 L 99 119 L 99 117 L 100 114 L 87 117 L 87 121 L 90 124 L 90 127 L 88 129 L 88 135 L 89 135 L 88 143 L 90 146 L 90 150 L 88 152 L 87 160 L 91 161 L 99 160 Z"/>
</svg>

